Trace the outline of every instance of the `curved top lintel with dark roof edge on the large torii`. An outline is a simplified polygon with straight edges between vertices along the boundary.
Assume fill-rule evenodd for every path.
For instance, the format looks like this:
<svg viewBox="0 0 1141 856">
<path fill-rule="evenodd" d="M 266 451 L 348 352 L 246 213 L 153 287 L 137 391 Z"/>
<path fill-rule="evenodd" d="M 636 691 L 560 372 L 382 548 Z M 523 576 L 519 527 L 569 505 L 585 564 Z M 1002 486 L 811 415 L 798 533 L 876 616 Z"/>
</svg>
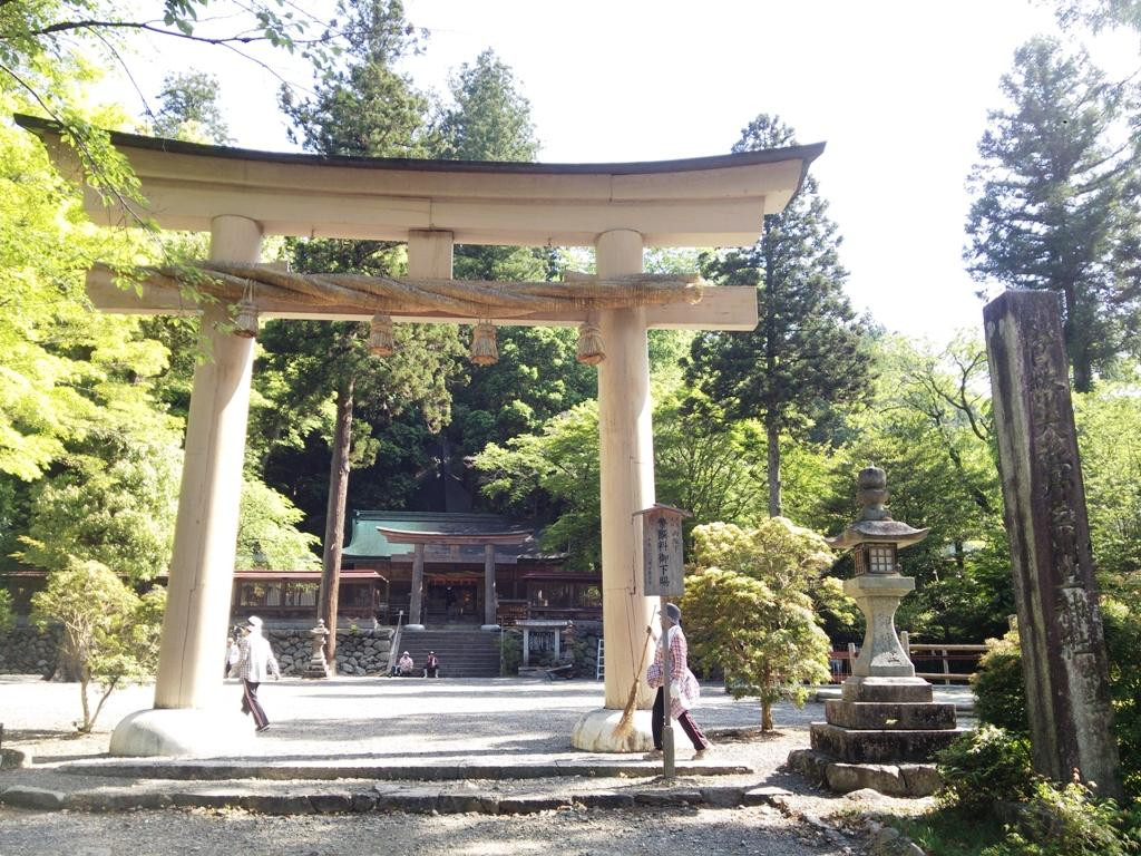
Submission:
<svg viewBox="0 0 1141 856">
<path fill-rule="evenodd" d="M 74 175 L 52 122 L 17 115 Z M 164 228 L 208 231 L 219 215 L 266 234 L 406 241 L 451 232 L 455 243 L 591 245 L 632 229 L 647 247 L 744 247 L 799 189 L 824 144 L 634 163 L 513 163 L 331 158 L 112 134 L 141 183 L 140 211 Z M 71 170 L 68 170 L 71 167 Z M 96 223 L 120 223 L 88 191 Z"/>
</svg>

